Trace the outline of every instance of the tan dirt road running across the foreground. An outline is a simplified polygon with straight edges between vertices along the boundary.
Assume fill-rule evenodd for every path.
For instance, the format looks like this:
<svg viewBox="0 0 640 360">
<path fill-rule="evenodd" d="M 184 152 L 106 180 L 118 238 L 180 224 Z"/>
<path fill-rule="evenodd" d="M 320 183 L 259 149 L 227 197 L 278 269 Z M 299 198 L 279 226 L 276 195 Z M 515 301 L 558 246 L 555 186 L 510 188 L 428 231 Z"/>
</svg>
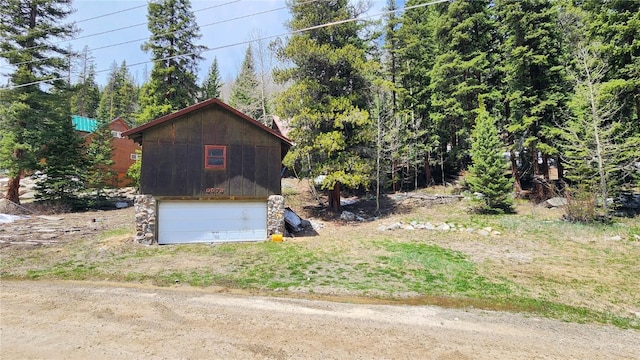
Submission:
<svg viewBox="0 0 640 360">
<path fill-rule="evenodd" d="M 637 359 L 640 332 L 215 289 L 2 281 L 2 359 Z"/>
</svg>

